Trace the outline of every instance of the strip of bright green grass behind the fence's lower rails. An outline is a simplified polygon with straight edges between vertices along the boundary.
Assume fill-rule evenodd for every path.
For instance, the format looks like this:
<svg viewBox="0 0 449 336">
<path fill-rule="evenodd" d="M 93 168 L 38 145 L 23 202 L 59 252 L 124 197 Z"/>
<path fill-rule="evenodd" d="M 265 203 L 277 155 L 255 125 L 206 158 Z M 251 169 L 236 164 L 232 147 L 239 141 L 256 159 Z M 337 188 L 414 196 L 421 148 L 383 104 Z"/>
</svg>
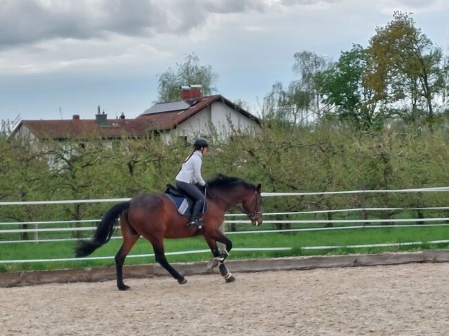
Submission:
<svg viewBox="0 0 449 336">
<path fill-rule="evenodd" d="M 292 228 L 300 224 L 292 225 Z M 269 230 L 270 224 L 254 228 L 247 225 L 238 227 L 239 230 Z M 67 234 L 66 234 L 67 235 Z M 39 235 L 41 237 L 41 235 Z M 449 239 L 449 230 L 441 226 L 419 226 L 410 228 L 361 228 L 345 230 L 303 231 L 294 233 L 252 233 L 244 235 L 228 235 L 234 248 L 260 248 L 260 247 L 290 247 L 292 250 L 283 251 L 234 251 L 230 259 L 250 259 L 263 257 L 287 257 L 297 255 L 343 255 L 347 253 L 381 253 L 385 251 L 423 250 L 433 248 L 448 248 L 449 244 L 428 244 L 427 241 Z M 408 241 L 423 241 L 421 246 L 391 246 L 385 248 L 347 248 L 344 246 L 360 244 L 401 243 Z M 112 239 L 91 256 L 112 256 L 122 244 L 121 239 Z M 208 249 L 202 237 L 187 239 L 166 239 L 164 241 L 166 252 L 184 250 Z M 0 259 L 55 259 L 72 258 L 75 241 L 41 242 L 21 244 L 0 244 Z M 334 250 L 304 250 L 307 246 L 343 246 Z M 140 239 L 135 244 L 131 255 L 153 253 L 149 241 Z M 198 253 L 191 255 L 169 255 L 170 262 L 205 261 L 211 253 Z M 153 263 L 154 257 L 135 257 L 126 259 L 125 264 Z M 0 264 L 0 272 L 18 270 L 46 270 L 59 268 L 85 268 L 97 266 L 112 266 L 113 259 L 93 261 L 52 261 L 44 263 Z"/>
</svg>

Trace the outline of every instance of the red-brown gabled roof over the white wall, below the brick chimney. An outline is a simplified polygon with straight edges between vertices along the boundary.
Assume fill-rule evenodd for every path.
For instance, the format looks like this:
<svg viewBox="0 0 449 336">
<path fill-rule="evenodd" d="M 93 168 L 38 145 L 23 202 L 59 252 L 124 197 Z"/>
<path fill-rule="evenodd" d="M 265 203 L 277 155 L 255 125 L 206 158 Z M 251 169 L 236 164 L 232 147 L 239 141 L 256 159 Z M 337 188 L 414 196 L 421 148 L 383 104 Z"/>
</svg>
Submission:
<svg viewBox="0 0 449 336">
<path fill-rule="evenodd" d="M 238 106 L 236 106 L 236 104 L 232 103 L 225 97 L 222 97 L 222 95 L 202 97 L 202 99 L 200 99 L 198 103 L 195 103 L 194 105 L 190 106 L 189 108 L 186 108 L 185 110 L 159 112 L 148 115 L 145 115 L 143 113 L 142 115 L 137 117 L 137 119 L 145 119 L 152 121 L 153 126 L 155 128 L 160 130 L 167 130 L 179 125 L 180 123 L 182 123 L 182 121 L 200 112 L 200 110 L 207 108 L 207 106 L 210 106 L 215 101 L 222 101 L 228 106 L 231 106 L 232 108 L 238 110 L 238 112 L 242 113 L 242 115 L 245 115 L 249 119 L 254 119 L 254 121 L 259 123 L 259 119 L 257 117 L 254 117 L 254 115 L 251 115 L 251 113 L 247 112 L 246 110 L 243 110 L 242 108 L 239 108 Z"/>
</svg>

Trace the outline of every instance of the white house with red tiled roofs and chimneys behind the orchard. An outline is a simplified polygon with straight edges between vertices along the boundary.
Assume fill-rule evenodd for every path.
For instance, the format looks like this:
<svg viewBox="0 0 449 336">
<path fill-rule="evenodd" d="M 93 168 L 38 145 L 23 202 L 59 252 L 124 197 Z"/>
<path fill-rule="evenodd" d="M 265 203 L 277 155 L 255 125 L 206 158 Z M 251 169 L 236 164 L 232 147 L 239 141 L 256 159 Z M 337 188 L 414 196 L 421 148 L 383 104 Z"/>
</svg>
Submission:
<svg viewBox="0 0 449 336">
<path fill-rule="evenodd" d="M 101 137 L 112 144 L 114 139 L 147 137 L 157 134 L 168 144 L 175 137 L 191 141 L 195 137 L 213 134 L 227 139 L 233 130 L 257 132 L 260 121 L 221 95 L 202 97 L 200 86 L 181 88 L 181 99 L 157 103 L 135 119 L 107 119 L 98 106 L 95 119 L 22 120 L 12 132 L 15 137 L 31 142 L 53 139 L 88 139 Z"/>
</svg>

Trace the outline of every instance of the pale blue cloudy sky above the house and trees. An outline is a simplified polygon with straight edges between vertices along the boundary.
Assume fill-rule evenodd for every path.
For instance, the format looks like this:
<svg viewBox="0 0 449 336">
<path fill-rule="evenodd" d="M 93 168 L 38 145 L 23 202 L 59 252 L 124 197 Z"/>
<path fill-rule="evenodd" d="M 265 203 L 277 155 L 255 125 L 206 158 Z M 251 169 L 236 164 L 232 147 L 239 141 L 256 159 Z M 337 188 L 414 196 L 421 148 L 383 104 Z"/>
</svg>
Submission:
<svg viewBox="0 0 449 336">
<path fill-rule="evenodd" d="M 0 0 L 0 119 L 135 118 L 192 52 L 259 115 L 295 52 L 336 61 L 395 10 L 449 54 L 449 0 Z"/>
</svg>

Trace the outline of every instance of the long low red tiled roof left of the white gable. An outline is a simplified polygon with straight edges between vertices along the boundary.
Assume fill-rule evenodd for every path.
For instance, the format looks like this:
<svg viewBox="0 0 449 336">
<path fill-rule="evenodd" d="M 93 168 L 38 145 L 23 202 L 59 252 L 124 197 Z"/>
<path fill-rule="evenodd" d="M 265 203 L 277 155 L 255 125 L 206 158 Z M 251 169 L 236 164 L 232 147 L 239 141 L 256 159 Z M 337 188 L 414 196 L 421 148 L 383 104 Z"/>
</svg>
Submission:
<svg viewBox="0 0 449 336">
<path fill-rule="evenodd" d="M 111 119 L 106 122 L 107 126 L 98 126 L 95 120 L 22 120 L 20 125 L 26 126 L 40 139 L 79 139 L 93 135 L 107 139 L 120 138 L 123 133 L 130 137 L 144 137 L 149 130 L 155 129 L 151 121 Z"/>
</svg>

